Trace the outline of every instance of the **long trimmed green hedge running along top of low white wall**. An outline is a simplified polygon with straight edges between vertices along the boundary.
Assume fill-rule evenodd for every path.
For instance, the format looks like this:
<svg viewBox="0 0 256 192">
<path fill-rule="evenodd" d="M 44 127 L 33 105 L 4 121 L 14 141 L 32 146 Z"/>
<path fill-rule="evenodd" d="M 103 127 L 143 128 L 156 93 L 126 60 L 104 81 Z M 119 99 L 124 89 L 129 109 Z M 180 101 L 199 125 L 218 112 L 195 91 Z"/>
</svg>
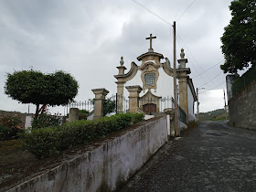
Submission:
<svg viewBox="0 0 256 192">
<path fill-rule="evenodd" d="M 93 121 L 65 123 L 58 127 L 32 129 L 23 134 L 23 147 L 38 159 L 59 154 L 69 147 L 87 144 L 109 133 L 144 120 L 143 113 L 120 113 Z"/>
</svg>

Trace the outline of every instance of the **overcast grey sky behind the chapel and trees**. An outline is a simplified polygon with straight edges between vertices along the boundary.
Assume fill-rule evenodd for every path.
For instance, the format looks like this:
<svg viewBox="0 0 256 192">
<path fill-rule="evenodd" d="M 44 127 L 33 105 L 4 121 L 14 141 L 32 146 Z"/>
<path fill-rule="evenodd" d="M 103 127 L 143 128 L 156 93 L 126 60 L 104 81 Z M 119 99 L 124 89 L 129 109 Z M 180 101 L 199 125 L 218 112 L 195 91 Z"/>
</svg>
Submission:
<svg viewBox="0 0 256 192">
<path fill-rule="evenodd" d="M 230 0 L 0 0 L 0 110 L 27 112 L 27 104 L 5 95 L 6 73 L 14 70 L 69 72 L 80 83 L 76 101 L 93 98 L 95 88 L 115 93 L 121 56 L 127 69 L 132 61 L 139 65 L 149 34 L 157 37 L 155 52 L 172 65 L 174 21 L 177 56 L 184 48 L 195 88 L 205 88 L 199 90 L 200 112 L 223 108 L 220 37 L 231 17 L 229 5 Z"/>
</svg>

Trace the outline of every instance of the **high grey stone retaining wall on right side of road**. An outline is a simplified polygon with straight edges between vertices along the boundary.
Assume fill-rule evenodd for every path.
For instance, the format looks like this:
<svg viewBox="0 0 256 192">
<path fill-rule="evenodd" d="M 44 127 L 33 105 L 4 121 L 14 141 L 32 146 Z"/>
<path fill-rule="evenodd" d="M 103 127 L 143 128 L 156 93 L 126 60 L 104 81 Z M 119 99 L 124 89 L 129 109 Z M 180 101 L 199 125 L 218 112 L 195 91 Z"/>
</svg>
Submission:
<svg viewBox="0 0 256 192">
<path fill-rule="evenodd" d="M 229 100 L 229 124 L 256 129 L 256 81 Z"/>
</svg>

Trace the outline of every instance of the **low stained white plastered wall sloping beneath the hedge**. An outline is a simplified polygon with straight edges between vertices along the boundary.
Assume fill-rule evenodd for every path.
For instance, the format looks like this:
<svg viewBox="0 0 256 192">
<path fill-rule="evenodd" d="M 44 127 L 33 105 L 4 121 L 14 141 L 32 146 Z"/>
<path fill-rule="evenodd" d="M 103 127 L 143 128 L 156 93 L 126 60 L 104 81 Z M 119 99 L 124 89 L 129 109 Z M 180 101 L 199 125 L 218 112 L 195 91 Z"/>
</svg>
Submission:
<svg viewBox="0 0 256 192">
<path fill-rule="evenodd" d="M 112 191 L 167 141 L 166 116 L 138 123 L 9 191 Z"/>
</svg>

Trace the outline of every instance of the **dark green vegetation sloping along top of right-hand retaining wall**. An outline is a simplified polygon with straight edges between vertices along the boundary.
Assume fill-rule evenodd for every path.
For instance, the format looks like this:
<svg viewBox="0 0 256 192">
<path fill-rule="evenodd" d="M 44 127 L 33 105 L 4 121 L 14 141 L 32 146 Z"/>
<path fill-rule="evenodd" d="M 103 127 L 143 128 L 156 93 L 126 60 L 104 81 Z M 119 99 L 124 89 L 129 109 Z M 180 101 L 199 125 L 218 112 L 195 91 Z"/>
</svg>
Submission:
<svg viewBox="0 0 256 192">
<path fill-rule="evenodd" d="M 256 80 L 256 68 L 251 67 L 246 71 L 238 80 L 232 84 L 232 93 L 233 95 L 242 91 L 246 86 L 248 86 L 253 80 Z"/>
</svg>

